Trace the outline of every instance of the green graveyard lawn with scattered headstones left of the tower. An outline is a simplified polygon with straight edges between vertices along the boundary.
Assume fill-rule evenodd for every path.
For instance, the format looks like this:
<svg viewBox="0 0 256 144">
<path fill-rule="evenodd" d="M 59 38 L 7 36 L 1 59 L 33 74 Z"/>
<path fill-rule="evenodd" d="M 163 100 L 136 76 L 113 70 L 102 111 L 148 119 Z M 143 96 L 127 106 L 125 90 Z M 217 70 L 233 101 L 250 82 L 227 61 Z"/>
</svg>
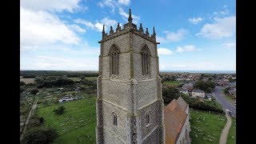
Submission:
<svg viewBox="0 0 256 144">
<path fill-rule="evenodd" d="M 94 98 L 64 102 L 54 106 L 40 106 L 37 114 L 45 119 L 46 127 L 54 127 L 59 137 L 54 143 L 95 143 L 96 103 Z M 62 115 L 54 114 L 58 106 L 65 106 Z"/>
</svg>

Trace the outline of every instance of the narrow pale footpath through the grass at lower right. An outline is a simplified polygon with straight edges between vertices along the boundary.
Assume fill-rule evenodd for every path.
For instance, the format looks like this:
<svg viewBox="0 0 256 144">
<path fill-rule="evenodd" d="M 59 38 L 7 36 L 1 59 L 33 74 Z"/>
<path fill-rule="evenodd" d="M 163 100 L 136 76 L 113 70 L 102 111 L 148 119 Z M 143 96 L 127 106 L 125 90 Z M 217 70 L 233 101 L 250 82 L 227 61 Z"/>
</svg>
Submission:
<svg viewBox="0 0 256 144">
<path fill-rule="evenodd" d="M 226 139 L 227 136 L 229 134 L 229 130 L 230 130 L 230 126 L 231 126 L 231 118 L 230 118 L 230 114 L 228 114 L 228 112 L 226 112 L 226 126 L 224 127 L 224 129 L 222 130 L 222 135 L 221 138 L 219 138 L 219 144 L 226 144 Z"/>
</svg>

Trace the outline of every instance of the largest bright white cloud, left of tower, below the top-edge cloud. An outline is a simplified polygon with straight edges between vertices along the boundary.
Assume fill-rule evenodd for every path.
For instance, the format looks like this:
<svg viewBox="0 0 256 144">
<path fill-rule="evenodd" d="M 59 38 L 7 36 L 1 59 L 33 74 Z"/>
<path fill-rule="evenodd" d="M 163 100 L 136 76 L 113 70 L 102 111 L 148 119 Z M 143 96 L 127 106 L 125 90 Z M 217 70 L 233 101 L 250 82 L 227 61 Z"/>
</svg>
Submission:
<svg viewBox="0 0 256 144">
<path fill-rule="evenodd" d="M 78 44 L 80 38 L 56 15 L 46 11 L 20 8 L 20 40 L 22 46 L 38 46 L 54 42 Z"/>
</svg>

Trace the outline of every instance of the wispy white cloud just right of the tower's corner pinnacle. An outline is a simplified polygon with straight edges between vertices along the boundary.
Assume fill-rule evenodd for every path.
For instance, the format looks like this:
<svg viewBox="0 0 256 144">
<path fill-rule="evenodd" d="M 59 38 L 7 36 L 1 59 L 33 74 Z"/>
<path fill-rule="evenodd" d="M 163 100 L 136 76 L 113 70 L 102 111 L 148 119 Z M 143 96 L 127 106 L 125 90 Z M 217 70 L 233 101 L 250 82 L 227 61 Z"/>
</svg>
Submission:
<svg viewBox="0 0 256 144">
<path fill-rule="evenodd" d="M 177 32 L 170 32 L 170 31 L 165 31 L 166 37 L 159 37 L 157 36 L 158 42 L 166 43 L 166 42 L 178 42 L 181 41 L 186 34 L 188 34 L 188 31 L 185 29 L 180 29 L 177 30 Z"/>
</svg>

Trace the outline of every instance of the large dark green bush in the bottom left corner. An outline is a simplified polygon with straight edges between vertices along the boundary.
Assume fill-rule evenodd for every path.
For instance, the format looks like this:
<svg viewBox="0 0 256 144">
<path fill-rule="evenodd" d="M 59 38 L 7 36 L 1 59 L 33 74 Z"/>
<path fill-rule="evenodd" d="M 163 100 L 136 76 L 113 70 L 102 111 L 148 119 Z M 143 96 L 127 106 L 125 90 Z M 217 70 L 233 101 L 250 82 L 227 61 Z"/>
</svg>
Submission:
<svg viewBox="0 0 256 144">
<path fill-rule="evenodd" d="M 47 144 L 53 142 L 58 137 L 58 133 L 55 129 L 47 129 L 44 127 L 38 127 L 32 130 L 28 130 L 24 135 L 22 143 L 24 144 Z"/>
</svg>

